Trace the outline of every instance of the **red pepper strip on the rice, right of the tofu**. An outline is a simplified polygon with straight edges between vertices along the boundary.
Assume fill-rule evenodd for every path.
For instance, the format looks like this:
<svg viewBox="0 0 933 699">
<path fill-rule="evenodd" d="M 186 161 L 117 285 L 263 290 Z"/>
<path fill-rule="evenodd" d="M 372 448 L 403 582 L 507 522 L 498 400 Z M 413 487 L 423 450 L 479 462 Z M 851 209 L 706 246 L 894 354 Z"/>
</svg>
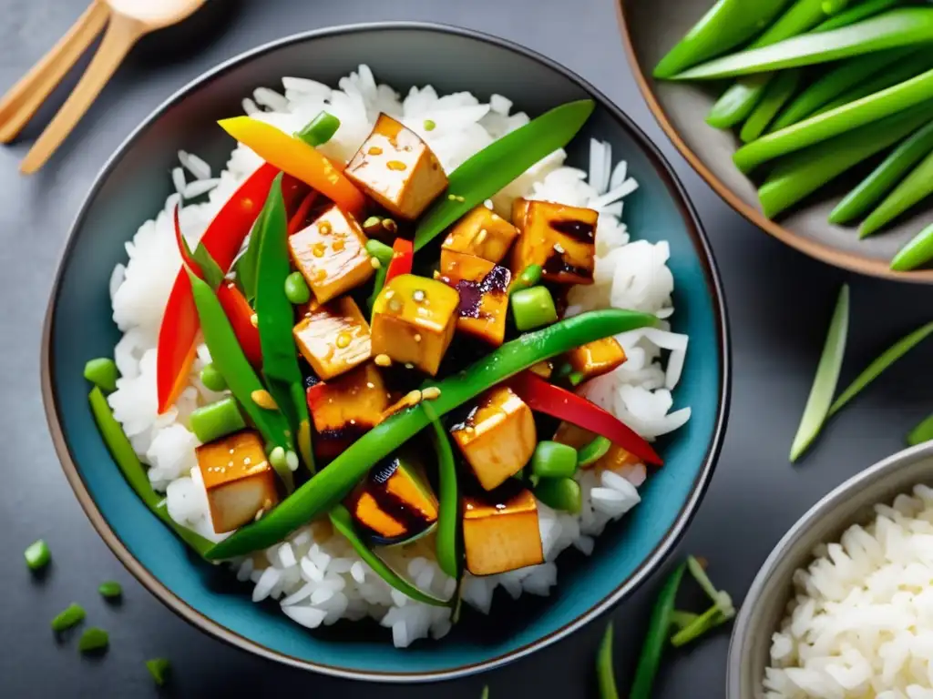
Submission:
<svg viewBox="0 0 933 699">
<path fill-rule="evenodd" d="M 619 418 L 593 404 L 576 393 L 554 386 L 530 371 L 523 371 L 508 383 L 509 388 L 528 407 L 539 413 L 582 427 L 584 430 L 602 434 L 614 445 L 618 445 L 645 463 L 661 466 L 664 461 L 654 448 Z"/>
</svg>

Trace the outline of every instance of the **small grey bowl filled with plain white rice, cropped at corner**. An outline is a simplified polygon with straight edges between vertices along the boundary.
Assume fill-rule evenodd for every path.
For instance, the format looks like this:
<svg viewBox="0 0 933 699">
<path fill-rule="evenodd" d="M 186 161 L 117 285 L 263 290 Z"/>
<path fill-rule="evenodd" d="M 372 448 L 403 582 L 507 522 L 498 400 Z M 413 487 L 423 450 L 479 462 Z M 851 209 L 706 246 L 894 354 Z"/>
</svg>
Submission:
<svg viewBox="0 0 933 699">
<path fill-rule="evenodd" d="M 727 696 L 933 697 L 933 443 L 850 478 L 774 547 L 732 632 Z"/>
</svg>

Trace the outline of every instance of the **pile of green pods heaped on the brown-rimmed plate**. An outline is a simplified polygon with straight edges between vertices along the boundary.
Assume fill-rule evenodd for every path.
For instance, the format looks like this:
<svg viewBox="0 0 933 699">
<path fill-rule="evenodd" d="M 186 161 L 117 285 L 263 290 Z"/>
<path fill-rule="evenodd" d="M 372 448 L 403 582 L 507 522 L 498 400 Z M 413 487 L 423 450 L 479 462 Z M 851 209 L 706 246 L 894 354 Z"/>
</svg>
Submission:
<svg viewBox="0 0 933 699">
<path fill-rule="evenodd" d="M 933 7 L 895 7 L 898 0 L 796 0 L 757 3 L 752 10 L 737 5 L 717 3 L 661 60 L 655 75 L 739 77 L 707 121 L 738 128 L 745 145 L 733 159 L 763 180 L 765 215 L 787 211 L 880 153 L 887 153 L 884 162 L 842 199 L 829 223 L 864 218 L 860 234 L 866 237 L 928 200 Z M 760 23 L 750 26 L 756 17 Z M 717 33 L 723 41 L 715 40 Z M 891 267 L 906 271 L 929 257 L 926 245 L 912 243 Z"/>
</svg>

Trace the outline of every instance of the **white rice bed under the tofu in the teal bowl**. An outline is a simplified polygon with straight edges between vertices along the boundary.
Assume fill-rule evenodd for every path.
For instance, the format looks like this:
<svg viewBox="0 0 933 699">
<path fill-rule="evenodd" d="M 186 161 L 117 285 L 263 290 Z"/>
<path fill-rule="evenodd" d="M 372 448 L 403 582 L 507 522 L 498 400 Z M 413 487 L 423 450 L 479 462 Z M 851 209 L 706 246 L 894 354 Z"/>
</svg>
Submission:
<svg viewBox="0 0 933 699">
<path fill-rule="evenodd" d="M 528 122 L 512 113 L 512 103 L 493 95 L 489 103 L 468 92 L 439 96 L 434 88 L 411 88 L 400 99 L 394 89 L 377 84 L 369 68 L 341 79 L 339 89 L 314 80 L 285 77 L 284 94 L 256 89 L 244 98 L 244 111 L 285 131 L 298 130 L 320 110 L 341 119 L 335 137 L 321 150 L 327 157 L 346 161 L 369 135 L 380 112 L 400 119 L 430 145 L 446 171 L 491 144 L 496 138 Z M 262 109 L 265 108 L 265 110 Z M 435 128 L 425 130 L 425 121 Z M 592 141 L 590 170 L 564 167 L 564 151 L 552 153 L 497 194 L 487 206 L 508 214 L 511 200 L 527 196 L 600 212 L 596 232 L 595 283 L 570 294 L 568 314 L 589 308 L 618 306 L 669 317 L 673 313 L 674 279 L 666 267 L 665 242 L 629 242 L 621 221 L 621 199 L 632 194 L 637 183 L 628 175 L 624 160 L 612 165 L 609 144 Z M 188 202 L 181 211 L 181 225 L 189 242 L 199 240 L 214 214 L 230 194 L 260 164 L 248 148 L 238 145 L 225 169 L 216 177 L 201 158 L 179 152 L 181 166 L 193 177 L 186 182 L 181 168 L 173 171 L 175 189 L 161 212 L 140 226 L 127 243 L 125 266 L 114 270 L 110 281 L 114 321 L 124 333 L 115 349 L 121 377 L 109 397 L 116 418 L 129 435 L 133 448 L 150 464 L 153 486 L 165 491 L 168 510 L 176 522 L 195 529 L 213 541 L 207 500 L 194 457 L 198 444 L 188 431 L 188 416 L 198 405 L 222 394 L 208 391 L 198 377 L 210 362 L 203 345 L 192 367 L 190 385 L 167 414 L 157 415 L 156 342 L 165 302 L 180 266 L 175 249 L 171 212 L 179 199 L 206 194 L 198 203 Z M 589 174 L 589 181 L 588 181 Z M 583 392 L 651 439 L 670 432 L 689 418 L 689 408 L 670 412 L 671 390 L 680 376 L 687 337 L 663 330 L 634 331 L 619 337 L 628 361 L 615 372 L 588 383 Z M 670 352 L 666 370 L 661 351 Z M 548 595 L 557 583 L 557 556 L 573 545 L 586 555 L 613 519 L 628 512 L 640 500 L 637 487 L 646 478 L 642 464 L 623 473 L 592 471 L 579 474 L 583 492 L 578 515 L 555 512 L 543 503 L 539 527 L 545 562 L 501 575 L 466 576 L 462 594 L 467 604 L 488 613 L 496 587 L 517 597 L 522 593 Z M 434 559 L 433 538 L 384 549 L 381 555 L 397 570 L 436 596 L 451 596 L 455 583 Z M 371 617 L 391 629 L 394 643 L 405 647 L 424 637 L 442 637 L 451 628 L 450 611 L 429 607 L 399 594 L 361 561 L 350 545 L 334 535 L 329 523 L 314 522 L 299 529 L 287 541 L 237 562 L 237 578 L 253 583 L 253 599 L 278 600 L 283 612 L 297 624 L 315 628 L 340 619 Z"/>
</svg>

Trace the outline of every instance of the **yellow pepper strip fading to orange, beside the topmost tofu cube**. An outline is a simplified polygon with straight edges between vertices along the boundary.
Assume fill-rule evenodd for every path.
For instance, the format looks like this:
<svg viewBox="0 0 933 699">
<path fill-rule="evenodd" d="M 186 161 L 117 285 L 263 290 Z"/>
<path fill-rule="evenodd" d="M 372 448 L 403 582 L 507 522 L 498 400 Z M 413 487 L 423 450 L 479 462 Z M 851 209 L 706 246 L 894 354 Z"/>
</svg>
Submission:
<svg viewBox="0 0 933 699">
<path fill-rule="evenodd" d="M 366 199 L 362 193 L 312 145 L 252 117 L 232 117 L 217 123 L 259 158 L 320 192 L 344 212 L 359 215 L 363 211 Z"/>
</svg>

